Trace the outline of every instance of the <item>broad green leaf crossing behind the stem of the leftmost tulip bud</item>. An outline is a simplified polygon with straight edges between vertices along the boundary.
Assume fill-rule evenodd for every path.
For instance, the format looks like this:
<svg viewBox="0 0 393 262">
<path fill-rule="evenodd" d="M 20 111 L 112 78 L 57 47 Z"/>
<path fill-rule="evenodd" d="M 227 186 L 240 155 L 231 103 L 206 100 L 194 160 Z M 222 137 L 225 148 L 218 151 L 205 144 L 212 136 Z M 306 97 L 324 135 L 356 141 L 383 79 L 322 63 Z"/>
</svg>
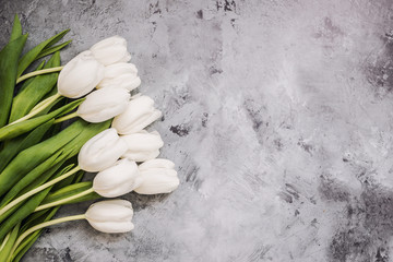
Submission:
<svg viewBox="0 0 393 262">
<path fill-rule="evenodd" d="M 44 69 L 60 66 L 60 52 L 56 52 L 45 64 Z M 31 109 L 39 103 L 56 85 L 59 73 L 41 74 L 34 78 L 23 91 L 21 91 L 12 102 L 9 122 L 13 122 L 26 116 Z"/>
</svg>

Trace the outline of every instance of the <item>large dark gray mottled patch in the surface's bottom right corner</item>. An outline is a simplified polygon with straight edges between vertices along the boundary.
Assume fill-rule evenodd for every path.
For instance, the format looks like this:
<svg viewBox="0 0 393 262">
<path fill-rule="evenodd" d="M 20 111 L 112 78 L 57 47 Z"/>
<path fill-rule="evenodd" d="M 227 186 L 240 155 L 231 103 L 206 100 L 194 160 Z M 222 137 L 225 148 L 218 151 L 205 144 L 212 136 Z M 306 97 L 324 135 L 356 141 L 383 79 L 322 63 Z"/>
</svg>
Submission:
<svg viewBox="0 0 393 262">
<path fill-rule="evenodd" d="M 330 245 L 331 261 L 389 261 L 393 236 L 393 192 L 364 182 L 360 199 L 347 205 L 347 221 L 341 224 Z"/>
</svg>

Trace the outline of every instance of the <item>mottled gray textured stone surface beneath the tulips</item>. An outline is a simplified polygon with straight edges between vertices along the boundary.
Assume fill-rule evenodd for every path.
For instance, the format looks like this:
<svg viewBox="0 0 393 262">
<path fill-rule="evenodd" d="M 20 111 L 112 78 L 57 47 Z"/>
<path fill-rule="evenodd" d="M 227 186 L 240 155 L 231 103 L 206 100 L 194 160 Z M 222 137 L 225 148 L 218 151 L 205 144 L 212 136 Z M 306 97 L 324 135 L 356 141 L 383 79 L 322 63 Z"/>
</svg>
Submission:
<svg viewBox="0 0 393 262">
<path fill-rule="evenodd" d="M 164 111 L 181 186 L 127 195 L 135 229 L 53 226 L 31 261 L 393 261 L 390 0 L 1 0 L 67 62 L 119 34 Z M 67 206 L 59 216 L 84 212 Z"/>
</svg>

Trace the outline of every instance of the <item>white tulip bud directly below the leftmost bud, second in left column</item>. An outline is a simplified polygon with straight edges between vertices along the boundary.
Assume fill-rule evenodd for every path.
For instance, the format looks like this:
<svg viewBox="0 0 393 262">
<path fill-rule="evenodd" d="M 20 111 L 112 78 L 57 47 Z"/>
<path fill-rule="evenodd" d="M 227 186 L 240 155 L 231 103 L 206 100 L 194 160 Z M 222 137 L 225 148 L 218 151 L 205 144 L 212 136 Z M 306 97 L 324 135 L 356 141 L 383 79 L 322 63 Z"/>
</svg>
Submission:
<svg viewBox="0 0 393 262">
<path fill-rule="evenodd" d="M 130 100 L 124 88 L 98 90 L 86 96 L 76 114 L 88 122 L 104 122 L 123 112 Z"/>
</svg>

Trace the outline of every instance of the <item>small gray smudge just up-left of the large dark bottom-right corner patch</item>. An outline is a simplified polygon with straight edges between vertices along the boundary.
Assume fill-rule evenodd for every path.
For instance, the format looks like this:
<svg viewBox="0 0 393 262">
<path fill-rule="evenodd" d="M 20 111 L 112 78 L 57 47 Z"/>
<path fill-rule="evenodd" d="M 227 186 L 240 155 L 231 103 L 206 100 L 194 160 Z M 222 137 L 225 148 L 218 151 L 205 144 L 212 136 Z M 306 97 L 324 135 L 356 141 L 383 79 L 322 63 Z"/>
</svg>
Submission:
<svg viewBox="0 0 393 262">
<path fill-rule="evenodd" d="M 318 191 L 321 193 L 322 198 L 325 200 L 332 200 L 335 202 L 348 202 L 349 201 L 349 191 L 344 184 L 338 183 L 332 179 L 329 175 L 320 176 L 320 184 Z"/>
</svg>

